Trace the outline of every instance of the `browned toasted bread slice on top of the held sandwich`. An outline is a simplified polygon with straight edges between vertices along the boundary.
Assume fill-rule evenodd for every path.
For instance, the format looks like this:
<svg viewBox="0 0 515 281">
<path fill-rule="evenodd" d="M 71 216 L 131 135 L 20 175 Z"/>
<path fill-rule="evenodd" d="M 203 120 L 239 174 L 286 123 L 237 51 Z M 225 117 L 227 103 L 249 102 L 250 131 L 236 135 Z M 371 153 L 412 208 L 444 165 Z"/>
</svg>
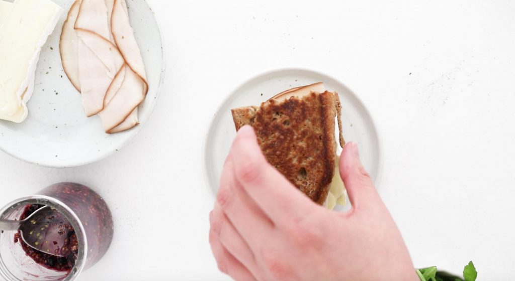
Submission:
<svg viewBox="0 0 515 281">
<path fill-rule="evenodd" d="M 323 204 L 334 174 L 334 119 L 339 119 L 340 108 L 337 93 L 325 91 L 231 111 L 236 130 L 251 125 L 267 161 L 313 201 Z M 340 145 L 344 145 L 341 129 Z"/>
</svg>

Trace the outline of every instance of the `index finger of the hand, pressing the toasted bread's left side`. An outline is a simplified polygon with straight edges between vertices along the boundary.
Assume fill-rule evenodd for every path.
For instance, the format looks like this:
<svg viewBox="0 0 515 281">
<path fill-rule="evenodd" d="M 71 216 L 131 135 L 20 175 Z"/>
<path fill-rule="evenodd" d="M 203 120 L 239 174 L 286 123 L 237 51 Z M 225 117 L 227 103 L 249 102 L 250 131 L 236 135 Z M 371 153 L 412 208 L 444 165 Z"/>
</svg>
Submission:
<svg viewBox="0 0 515 281">
<path fill-rule="evenodd" d="M 266 161 L 252 127 L 239 129 L 230 155 L 237 182 L 275 224 L 297 221 L 318 210 Z"/>
</svg>

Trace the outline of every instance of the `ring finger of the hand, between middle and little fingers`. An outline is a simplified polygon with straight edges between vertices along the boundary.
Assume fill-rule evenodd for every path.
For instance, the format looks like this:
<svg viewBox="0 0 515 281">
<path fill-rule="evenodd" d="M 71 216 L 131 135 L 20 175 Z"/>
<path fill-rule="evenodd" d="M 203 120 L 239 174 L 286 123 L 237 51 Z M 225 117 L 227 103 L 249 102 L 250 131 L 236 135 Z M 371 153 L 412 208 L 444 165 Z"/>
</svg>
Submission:
<svg viewBox="0 0 515 281">
<path fill-rule="evenodd" d="M 213 233 L 229 253 L 249 270 L 255 269 L 254 254 L 249 245 L 234 228 L 218 203 L 215 205 L 210 221 Z"/>
</svg>

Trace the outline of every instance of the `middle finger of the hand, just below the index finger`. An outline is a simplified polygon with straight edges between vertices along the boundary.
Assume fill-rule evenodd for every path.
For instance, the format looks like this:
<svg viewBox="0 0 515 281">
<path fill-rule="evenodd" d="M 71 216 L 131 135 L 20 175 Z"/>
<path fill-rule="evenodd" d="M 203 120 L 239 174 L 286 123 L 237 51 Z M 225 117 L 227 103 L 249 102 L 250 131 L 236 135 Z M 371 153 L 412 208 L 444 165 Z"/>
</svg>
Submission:
<svg viewBox="0 0 515 281">
<path fill-rule="evenodd" d="M 222 171 L 216 204 L 250 248 L 256 250 L 262 245 L 263 234 L 270 232 L 273 224 L 236 181 L 233 170 L 230 155 Z"/>
</svg>

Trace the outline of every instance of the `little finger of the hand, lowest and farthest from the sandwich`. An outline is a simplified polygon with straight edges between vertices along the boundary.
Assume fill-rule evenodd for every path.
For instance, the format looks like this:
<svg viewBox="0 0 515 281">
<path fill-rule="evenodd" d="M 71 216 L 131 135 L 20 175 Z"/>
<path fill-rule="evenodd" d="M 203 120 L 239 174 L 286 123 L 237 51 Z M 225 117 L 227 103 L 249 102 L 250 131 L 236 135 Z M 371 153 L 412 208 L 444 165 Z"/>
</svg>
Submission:
<svg viewBox="0 0 515 281">
<path fill-rule="evenodd" d="M 211 250 L 218 264 L 218 269 L 221 272 L 228 274 L 235 280 L 256 280 L 252 273 L 222 245 L 213 229 L 209 232 L 209 242 L 211 243 Z"/>
</svg>

